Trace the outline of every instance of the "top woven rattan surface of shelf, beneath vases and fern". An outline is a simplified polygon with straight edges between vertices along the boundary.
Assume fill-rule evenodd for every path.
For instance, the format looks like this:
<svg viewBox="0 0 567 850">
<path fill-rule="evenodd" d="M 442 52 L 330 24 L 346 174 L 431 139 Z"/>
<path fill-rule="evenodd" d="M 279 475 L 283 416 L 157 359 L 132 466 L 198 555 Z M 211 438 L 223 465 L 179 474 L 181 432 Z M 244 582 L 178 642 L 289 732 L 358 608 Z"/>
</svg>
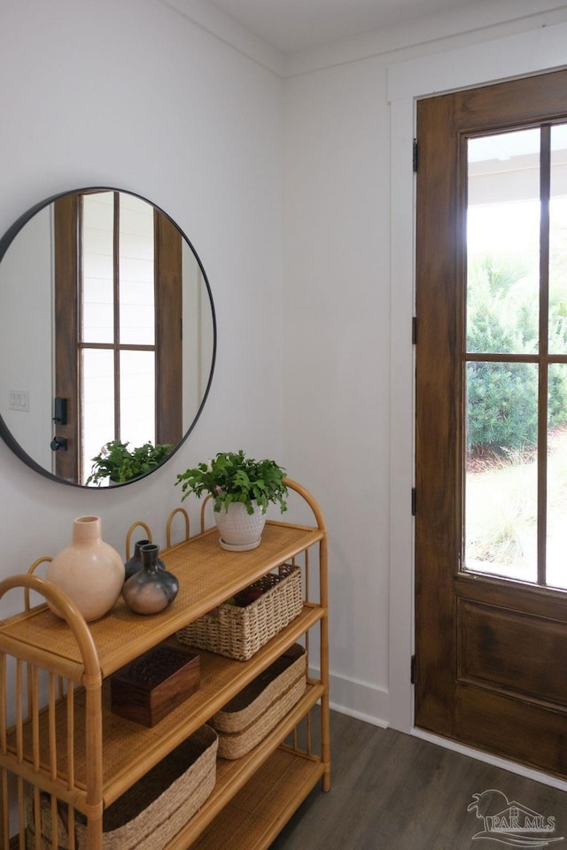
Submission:
<svg viewBox="0 0 567 850">
<path fill-rule="evenodd" d="M 110 676 L 247 584 L 315 545 L 322 536 L 319 529 L 267 522 L 261 545 L 251 552 L 221 549 L 216 529 L 163 550 L 160 556 L 179 580 L 173 605 L 161 614 L 144 617 L 119 599 L 110 614 L 89 622 L 102 675 Z M 81 667 L 81 655 L 66 622 L 43 605 L 0 623 L 0 648 L 11 649 L 14 641 L 38 653 L 43 665 L 54 672 L 60 669 L 66 675 L 70 663 Z"/>
</svg>

